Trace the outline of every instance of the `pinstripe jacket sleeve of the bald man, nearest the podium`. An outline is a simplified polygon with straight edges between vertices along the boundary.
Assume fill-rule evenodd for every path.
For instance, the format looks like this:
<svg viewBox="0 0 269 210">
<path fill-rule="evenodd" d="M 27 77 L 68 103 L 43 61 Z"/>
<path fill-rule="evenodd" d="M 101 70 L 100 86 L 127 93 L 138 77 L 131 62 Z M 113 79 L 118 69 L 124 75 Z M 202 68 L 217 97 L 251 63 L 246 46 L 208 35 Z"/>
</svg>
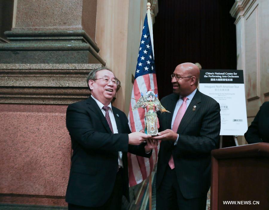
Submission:
<svg viewBox="0 0 269 210">
<path fill-rule="evenodd" d="M 214 103 L 202 119 L 199 136 L 179 134 L 177 151 L 181 154 L 210 153 L 218 145 L 220 125 L 220 106 Z"/>
</svg>

